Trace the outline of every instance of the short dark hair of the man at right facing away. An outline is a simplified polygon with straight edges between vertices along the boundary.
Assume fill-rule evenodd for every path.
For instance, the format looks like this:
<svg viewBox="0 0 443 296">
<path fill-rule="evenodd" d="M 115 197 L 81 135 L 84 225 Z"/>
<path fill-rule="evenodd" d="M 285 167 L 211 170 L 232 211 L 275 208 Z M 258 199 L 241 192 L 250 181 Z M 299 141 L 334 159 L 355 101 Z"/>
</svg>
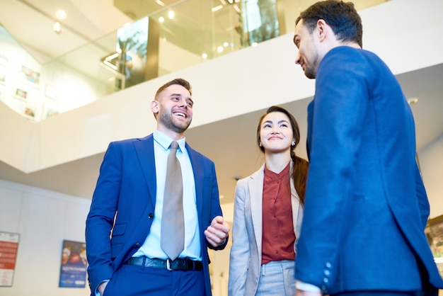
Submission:
<svg viewBox="0 0 443 296">
<path fill-rule="evenodd" d="M 363 26 L 362 19 L 355 10 L 352 2 L 326 0 L 313 4 L 295 21 L 303 20 L 303 24 L 312 33 L 318 20 L 324 20 L 333 29 L 338 40 L 354 41 L 362 47 Z"/>
</svg>

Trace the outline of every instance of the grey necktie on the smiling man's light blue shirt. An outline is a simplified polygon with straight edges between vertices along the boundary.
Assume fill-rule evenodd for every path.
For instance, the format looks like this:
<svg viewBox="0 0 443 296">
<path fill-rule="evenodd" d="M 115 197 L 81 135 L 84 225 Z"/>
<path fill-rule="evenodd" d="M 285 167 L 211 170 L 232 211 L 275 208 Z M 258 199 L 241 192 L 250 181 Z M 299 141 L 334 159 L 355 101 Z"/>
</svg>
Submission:
<svg viewBox="0 0 443 296">
<path fill-rule="evenodd" d="M 183 218 L 183 180 L 180 162 L 176 157 L 178 143 L 171 143 L 166 166 L 165 194 L 161 216 L 161 249 L 174 260 L 185 246 L 185 220 Z"/>
</svg>

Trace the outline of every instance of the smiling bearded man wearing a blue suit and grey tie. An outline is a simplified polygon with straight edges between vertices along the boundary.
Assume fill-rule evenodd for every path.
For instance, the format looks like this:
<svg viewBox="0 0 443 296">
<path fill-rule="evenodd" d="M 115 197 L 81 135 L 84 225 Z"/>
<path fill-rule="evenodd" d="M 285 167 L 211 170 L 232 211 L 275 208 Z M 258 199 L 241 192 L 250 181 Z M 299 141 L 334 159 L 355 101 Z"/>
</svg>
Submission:
<svg viewBox="0 0 443 296">
<path fill-rule="evenodd" d="M 189 82 L 169 81 L 151 102 L 154 133 L 110 143 L 86 219 L 93 296 L 212 295 L 207 248 L 224 249 L 229 225 L 222 217 L 214 163 L 185 142 L 192 106 Z M 172 146 L 183 179 L 177 186 L 183 191 L 183 202 L 177 203 L 183 205 L 181 222 L 163 213 L 172 200 L 167 192 L 175 187 L 166 186 Z M 162 220 L 168 217 L 184 226 L 184 234 L 165 229 Z M 180 241 L 180 249 L 171 256 L 163 241 Z"/>
</svg>

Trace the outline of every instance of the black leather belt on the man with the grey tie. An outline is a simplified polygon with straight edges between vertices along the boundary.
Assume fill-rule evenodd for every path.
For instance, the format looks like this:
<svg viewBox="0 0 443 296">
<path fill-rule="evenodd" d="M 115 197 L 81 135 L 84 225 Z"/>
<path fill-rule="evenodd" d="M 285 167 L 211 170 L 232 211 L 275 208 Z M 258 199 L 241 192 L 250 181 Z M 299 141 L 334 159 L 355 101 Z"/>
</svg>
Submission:
<svg viewBox="0 0 443 296">
<path fill-rule="evenodd" d="M 168 271 L 201 271 L 203 269 L 201 261 L 193 261 L 188 258 L 176 258 L 176 260 L 172 261 L 171 259 L 162 260 L 148 257 L 131 257 L 125 264 L 151 268 L 166 268 Z"/>
</svg>

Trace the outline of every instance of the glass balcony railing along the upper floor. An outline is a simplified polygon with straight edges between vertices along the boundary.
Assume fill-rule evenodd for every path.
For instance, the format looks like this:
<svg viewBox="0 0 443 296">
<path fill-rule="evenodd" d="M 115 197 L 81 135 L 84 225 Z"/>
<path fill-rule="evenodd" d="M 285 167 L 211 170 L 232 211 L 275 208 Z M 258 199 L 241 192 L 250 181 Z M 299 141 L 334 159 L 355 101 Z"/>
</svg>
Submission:
<svg viewBox="0 0 443 296">
<path fill-rule="evenodd" d="M 354 3 L 358 10 L 384 1 Z M 29 67 L 11 65 L 32 57 L 0 26 L 0 44 L 20 48 L 0 47 L 0 101 L 30 120 L 44 120 L 134 84 L 291 33 L 299 11 L 313 2 L 177 1 L 51 62 L 31 62 Z M 10 58 L 11 52 L 26 58 Z M 20 76 L 23 87 L 5 78 L 11 69 L 19 72 L 11 76 Z"/>
</svg>

